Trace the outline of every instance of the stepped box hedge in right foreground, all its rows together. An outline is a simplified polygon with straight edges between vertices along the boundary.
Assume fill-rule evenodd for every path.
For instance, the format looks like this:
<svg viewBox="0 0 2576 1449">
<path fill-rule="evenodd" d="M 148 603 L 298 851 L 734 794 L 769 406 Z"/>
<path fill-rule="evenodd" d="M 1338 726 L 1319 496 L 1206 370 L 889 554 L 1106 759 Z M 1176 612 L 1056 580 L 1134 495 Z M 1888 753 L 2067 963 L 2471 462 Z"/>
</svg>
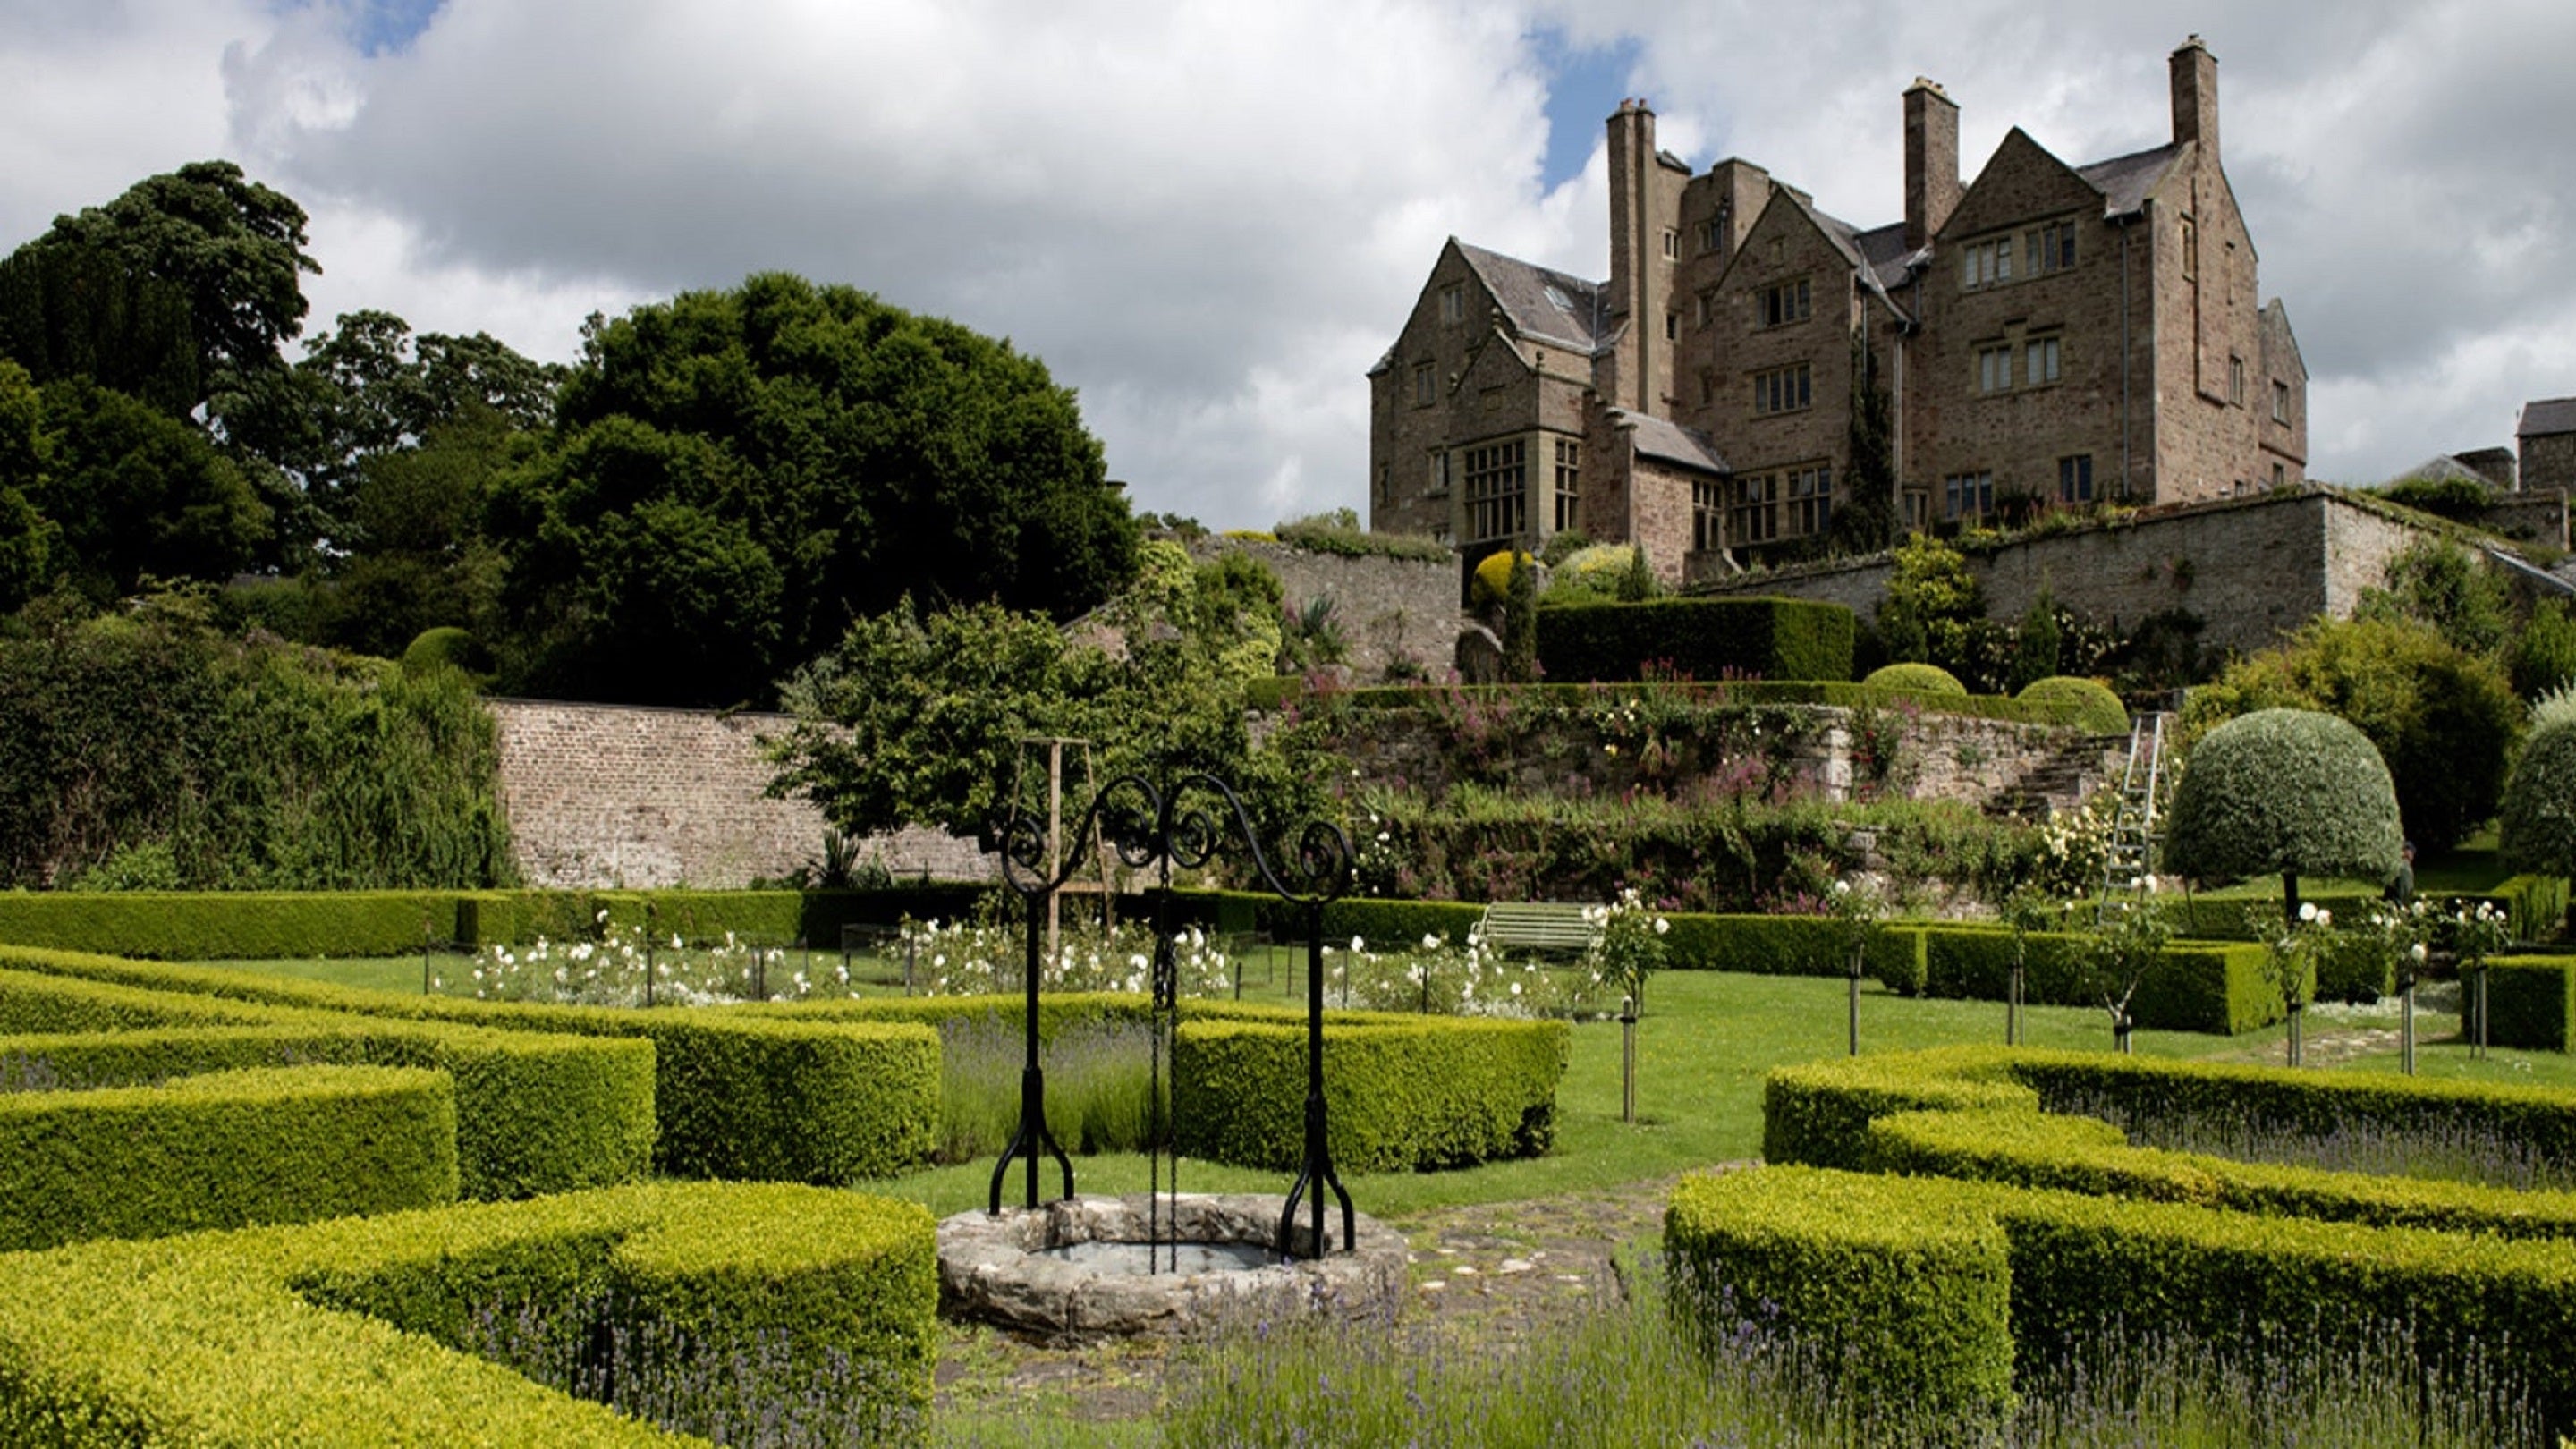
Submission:
<svg viewBox="0 0 2576 1449">
<path fill-rule="evenodd" d="M 2249 1372 L 2401 1343 L 2429 1382 L 2476 1369 L 2550 1434 L 2576 1423 L 2576 1194 L 2138 1150 L 2043 1106 L 2429 1145 L 2476 1127 L 2576 1168 L 2563 1091 L 1996 1047 L 1811 1062 L 1765 1083 L 1777 1165 L 1674 1191 L 1685 1305 L 1788 1328 L 1875 1408 L 1953 1426 L 2009 1403 L 2017 1359 L 2105 1336 Z"/>
</svg>

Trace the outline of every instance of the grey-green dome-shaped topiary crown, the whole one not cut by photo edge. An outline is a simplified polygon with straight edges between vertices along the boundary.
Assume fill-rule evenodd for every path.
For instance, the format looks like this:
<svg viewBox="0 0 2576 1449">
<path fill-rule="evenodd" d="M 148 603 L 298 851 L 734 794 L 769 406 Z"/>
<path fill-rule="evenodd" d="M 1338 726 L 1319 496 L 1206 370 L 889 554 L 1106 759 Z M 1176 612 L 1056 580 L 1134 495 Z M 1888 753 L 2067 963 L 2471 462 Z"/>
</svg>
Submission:
<svg viewBox="0 0 2576 1449">
<path fill-rule="evenodd" d="M 2398 874 L 2398 792 L 2370 737 L 2313 709 L 2257 709 L 2182 761 L 2164 861 L 2200 879 Z"/>
</svg>

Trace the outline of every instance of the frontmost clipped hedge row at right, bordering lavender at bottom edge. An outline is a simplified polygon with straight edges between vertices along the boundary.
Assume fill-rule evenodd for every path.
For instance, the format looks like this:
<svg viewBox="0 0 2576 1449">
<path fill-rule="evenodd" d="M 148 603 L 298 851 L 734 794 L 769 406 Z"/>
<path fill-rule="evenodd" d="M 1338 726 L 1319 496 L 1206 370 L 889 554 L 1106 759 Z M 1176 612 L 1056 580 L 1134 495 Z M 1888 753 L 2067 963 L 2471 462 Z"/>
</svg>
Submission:
<svg viewBox="0 0 2576 1449">
<path fill-rule="evenodd" d="M 2427 1374 L 2519 1385 L 2550 1434 L 2576 1421 L 2576 1256 L 2558 1240 L 1754 1168 L 1685 1178 L 1664 1250 L 1705 1330 L 1741 1315 L 1821 1343 L 1896 1418 L 1958 1426 L 2007 1403 L 2014 1359 L 2081 1361 L 2115 1336 L 2259 1372 L 2287 1330 L 2303 1359 L 2403 1343 Z"/>
</svg>

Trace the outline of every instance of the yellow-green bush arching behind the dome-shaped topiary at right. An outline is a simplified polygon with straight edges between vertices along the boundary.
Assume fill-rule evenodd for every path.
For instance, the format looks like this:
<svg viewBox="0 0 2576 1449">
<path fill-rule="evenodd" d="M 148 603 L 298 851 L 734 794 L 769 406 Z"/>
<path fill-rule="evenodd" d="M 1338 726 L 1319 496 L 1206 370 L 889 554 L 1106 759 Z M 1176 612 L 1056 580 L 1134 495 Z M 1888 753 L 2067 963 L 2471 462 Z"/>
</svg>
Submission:
<svg viewBox="0 0 2576 1449">
<path fill-rule="evenodd" d="M 2184 735 L 2254 709 L 2324 709 L 2396 776 L 2406 835 L 2447 851 L 2494 815 L 2522 730 L 2504 670 L 2411 619 L 2321 619 L 2195 688 Z"/>
</svg>

